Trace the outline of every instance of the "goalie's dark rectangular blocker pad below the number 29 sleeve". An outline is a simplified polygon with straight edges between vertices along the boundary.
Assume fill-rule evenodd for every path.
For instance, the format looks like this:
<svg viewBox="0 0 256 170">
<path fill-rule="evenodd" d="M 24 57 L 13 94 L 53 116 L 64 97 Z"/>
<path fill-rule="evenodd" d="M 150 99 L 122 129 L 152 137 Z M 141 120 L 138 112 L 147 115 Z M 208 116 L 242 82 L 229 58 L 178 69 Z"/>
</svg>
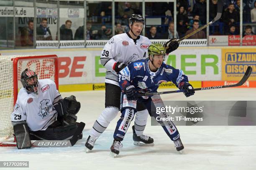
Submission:
<svg viewBox="0 0 256 170">
<path fill-rule="evenodd" d="M 19 123 L 13 126 L 18 149 L 31 147 L 29 128 L 26 123 Z"/>
</svg>

